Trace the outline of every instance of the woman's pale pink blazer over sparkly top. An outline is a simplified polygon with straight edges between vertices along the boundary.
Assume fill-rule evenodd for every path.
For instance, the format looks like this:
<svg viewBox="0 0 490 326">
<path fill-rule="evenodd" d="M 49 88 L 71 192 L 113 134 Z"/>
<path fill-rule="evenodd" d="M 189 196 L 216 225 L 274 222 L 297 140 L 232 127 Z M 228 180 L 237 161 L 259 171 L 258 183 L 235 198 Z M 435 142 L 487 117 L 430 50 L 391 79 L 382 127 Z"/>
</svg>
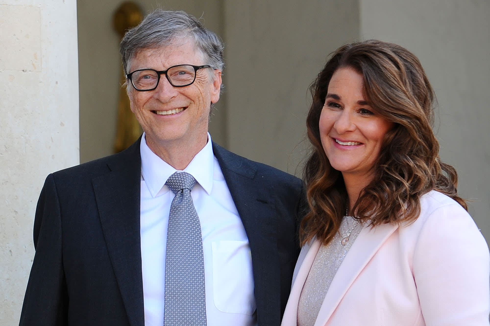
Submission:
<svg viewBox="0 0 490 326">
<path fill-rule="evenodd" d="M 365 227 L 345 256 L 315 326 L 488 326 L 490 258 L 468 213 L 437 191 L 417 220 Z M 296 325 L 299 295 L 320 243 L 302 248 L 282 326 Z"/>
</svg>

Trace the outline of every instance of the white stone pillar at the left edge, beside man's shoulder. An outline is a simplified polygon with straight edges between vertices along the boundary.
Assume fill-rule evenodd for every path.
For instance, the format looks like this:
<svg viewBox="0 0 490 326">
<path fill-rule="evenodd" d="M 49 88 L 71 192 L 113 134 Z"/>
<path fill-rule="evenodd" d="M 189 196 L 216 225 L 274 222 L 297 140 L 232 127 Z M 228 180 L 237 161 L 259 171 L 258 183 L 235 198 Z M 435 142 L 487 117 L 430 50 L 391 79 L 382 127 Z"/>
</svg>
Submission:
<svg viewBox="0 0 490 326">
<path fill-rule="evenodd" d="M 0 324 L 17 325 L 39 192 L 79 162 L 75 1 L 0 0 L 0 48 Z"/>
</svg>

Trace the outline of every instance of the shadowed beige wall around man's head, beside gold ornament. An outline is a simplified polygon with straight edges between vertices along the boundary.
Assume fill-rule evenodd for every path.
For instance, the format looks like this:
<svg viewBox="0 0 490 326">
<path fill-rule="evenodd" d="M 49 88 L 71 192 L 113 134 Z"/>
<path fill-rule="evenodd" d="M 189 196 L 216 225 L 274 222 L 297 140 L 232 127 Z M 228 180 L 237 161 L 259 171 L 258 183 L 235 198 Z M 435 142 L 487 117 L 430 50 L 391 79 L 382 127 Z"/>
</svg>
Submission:
<svg viewBox="0 0 490 326">
<path fill-rule="evenodd" d="M 80 161 L 113 154 L 116 137 L 117 103 L 121 89 L 120 37 L 112 27 L 112 16 L 122 0 L 78 0 L 78 57 L 80 73 Z M 220 0 L 136 0 L 144 13 L 157 7 L 184 10 L 204 25 L 222 33 Z M 226 83 L 226 76 L 224 76 Z M 226 145 L 224 103 L 215 107 L 210 124 L 213 140 Z"/>
</svg>

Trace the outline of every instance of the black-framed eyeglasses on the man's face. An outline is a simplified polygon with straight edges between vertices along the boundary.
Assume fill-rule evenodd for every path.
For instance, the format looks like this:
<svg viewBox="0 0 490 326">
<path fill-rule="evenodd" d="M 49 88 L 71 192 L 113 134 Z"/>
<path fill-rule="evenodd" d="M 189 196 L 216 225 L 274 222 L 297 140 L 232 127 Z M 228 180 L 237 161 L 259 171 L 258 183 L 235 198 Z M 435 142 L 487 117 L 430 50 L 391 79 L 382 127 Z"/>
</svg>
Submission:
<svg viewBox="0 0 490 326">
<path fill-rule="evenodd" d="M 157 88 L 160 76 L 165 74 L 170 85 L 173 87 L 189 86 L 196 80 L 196 72 L 202 68 L 211 68 L 210 65 L 193 66 L 177 65 L 167 70 L 140 69 L 134 70 L 126 75 L 133 87 L 141 92 L 153 91 Z"/>
</svg>

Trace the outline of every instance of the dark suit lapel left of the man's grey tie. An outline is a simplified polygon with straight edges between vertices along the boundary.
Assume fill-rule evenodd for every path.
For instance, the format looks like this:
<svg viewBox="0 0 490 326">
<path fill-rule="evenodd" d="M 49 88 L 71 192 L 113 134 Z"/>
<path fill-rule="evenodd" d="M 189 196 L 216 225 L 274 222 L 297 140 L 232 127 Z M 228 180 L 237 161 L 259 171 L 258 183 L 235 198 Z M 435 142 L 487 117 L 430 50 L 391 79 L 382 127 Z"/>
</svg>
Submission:
<svg viewBox="0 0 490 326">
<path fill-rule="evenodd" d="M 140 244 L 140 140 L 92 180 L 100 223 L 124 306 L 132 326 L 144 326 Z"/>
</svg>

